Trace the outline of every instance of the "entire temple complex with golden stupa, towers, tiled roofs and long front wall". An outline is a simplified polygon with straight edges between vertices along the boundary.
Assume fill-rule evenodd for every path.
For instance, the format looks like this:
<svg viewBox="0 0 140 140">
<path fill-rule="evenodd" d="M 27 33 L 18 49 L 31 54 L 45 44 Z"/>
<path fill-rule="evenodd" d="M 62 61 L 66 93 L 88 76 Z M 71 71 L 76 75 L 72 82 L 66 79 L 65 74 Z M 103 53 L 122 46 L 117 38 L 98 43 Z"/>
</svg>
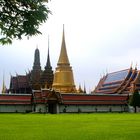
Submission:
<svg viewBox="0 0 140 140">
<path fill-rule="evenodd" d="M 4 85 L 4 84 L 3 84 Z M 4 89 L 4 88 L 3 88 Z M 129 112 L 129 97 L 140 90 L 137 68 L 108 73 L 92 93 L 76 89 L 63 27 L 62 44 L 55 73 L 50 63 L 49 41 L 45 69 L 36 48 L 32 70 L 11 76 L 9 94 L 0 94 L 0 112 L 92 113 Z"/>
</svg>

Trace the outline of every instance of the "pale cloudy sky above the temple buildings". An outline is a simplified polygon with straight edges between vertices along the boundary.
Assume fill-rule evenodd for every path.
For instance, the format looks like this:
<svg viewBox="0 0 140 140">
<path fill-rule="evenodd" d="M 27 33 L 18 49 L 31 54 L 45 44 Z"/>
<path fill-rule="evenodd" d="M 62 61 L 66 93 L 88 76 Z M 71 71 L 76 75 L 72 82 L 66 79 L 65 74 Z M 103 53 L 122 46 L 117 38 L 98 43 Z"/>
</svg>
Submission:
<svg viewBox="0 0 140 140">
<path fill-rule="evenodd" d="M 140 68 L 140 1 L 139 0 L 51 0 L 52 15 L 40 27 L 42 35 L 15 40 L 0 46 L 0 89 L 3 73 L 9 87 L 10 73 L 25 74 L 32 69 L 38 46 L 41 65 L 47 59 L 48 35 L 53 70 L 57 65 L 62 28 L 75 84 L 94 89 L 100 77 L 130 67 Z"/>
</svg>

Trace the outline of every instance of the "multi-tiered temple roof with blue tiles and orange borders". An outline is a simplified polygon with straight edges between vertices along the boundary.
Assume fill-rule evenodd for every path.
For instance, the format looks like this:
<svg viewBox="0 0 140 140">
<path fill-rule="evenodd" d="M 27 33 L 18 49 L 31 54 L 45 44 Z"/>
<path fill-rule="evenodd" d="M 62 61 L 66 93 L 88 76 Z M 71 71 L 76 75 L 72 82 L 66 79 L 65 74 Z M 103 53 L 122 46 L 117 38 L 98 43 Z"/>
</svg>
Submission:
<svg viewBox="0 0 140 140">
<path fill-rule="evenodd" d="M 140 89 L 140 71 L 137 68 L 125 69 L 103 76 L 93 93 L 132 94 Z"/>
</svg>

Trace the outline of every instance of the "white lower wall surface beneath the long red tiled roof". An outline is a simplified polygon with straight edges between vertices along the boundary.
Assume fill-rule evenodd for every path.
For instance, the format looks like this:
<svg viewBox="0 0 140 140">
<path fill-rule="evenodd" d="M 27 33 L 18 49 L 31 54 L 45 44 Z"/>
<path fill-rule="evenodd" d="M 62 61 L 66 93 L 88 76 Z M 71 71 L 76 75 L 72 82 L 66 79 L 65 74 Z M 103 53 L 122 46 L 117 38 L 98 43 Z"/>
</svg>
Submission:
<svg viewBox="0 0 140 140">
<path fill-rule="evenodd" d="M 34 110 L 34 109 L 35 110 Z M 56 104 L 54 113 L 95 113 L 95 112 L 129 112 L 128 106 L 124 105 L 62 105 Z M 49 113 L 48 105 L 36 104 L 32 105 L 0 105 L 0 112 L 37 112 L 37 113 Z"/>
</svg>

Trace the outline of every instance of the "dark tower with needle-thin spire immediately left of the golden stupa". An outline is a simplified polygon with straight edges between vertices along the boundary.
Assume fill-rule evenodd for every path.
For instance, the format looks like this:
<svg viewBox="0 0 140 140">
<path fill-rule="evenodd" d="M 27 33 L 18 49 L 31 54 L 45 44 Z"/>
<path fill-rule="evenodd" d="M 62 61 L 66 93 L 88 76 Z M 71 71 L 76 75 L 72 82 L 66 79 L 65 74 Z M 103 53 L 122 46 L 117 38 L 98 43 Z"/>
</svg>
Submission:
<svg viewBox="0 0 140 140">
<path fill-rule="evenodd" d="M 45 70 L 42 72 L 42 75 L 41 75 L 41 87 L 51 89 L 52 84 L 53 84 L 53 70 L 52 70 L 52 66 L 50 62 L 49 38 L 48 38 L 48 56 L 47 56 Z"/>
</svg>

